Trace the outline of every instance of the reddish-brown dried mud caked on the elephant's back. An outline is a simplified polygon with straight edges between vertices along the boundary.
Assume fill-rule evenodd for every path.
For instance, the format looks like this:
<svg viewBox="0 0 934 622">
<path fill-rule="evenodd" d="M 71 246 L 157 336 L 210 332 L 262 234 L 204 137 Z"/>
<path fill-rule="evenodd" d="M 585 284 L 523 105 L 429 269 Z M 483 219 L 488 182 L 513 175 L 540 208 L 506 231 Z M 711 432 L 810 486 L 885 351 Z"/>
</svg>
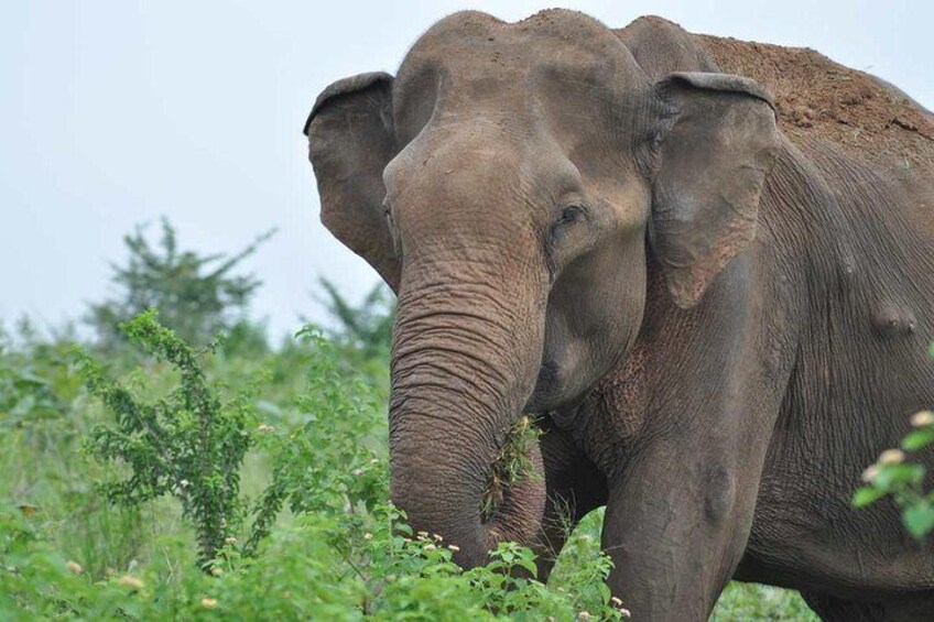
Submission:
<svg viewBox="0 0 934 622">
<path fill-rule="evenodd" d="M 795 143 L 819 138 L 879 164 L 934 171 L 934 117 L 904 94 L 813 50 L 697 37 L 720 70 L 769 89 Z"/>
</svg>

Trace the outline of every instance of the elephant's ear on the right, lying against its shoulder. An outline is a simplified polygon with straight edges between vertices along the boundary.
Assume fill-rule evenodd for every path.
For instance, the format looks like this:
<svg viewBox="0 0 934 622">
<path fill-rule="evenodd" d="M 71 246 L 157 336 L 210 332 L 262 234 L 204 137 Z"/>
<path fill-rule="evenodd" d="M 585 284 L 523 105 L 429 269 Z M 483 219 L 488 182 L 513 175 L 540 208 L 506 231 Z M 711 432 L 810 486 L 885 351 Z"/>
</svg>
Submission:
<svg viewBox="0 0 934 622">
<path fill-rule="evenodd" d="M 662 100 L 650 242 L 675 303 L 697 303 L 756 237 L 759 197 L 778 153 L 775 112 L 757 83 L 675 73 Z"/>
</svg>

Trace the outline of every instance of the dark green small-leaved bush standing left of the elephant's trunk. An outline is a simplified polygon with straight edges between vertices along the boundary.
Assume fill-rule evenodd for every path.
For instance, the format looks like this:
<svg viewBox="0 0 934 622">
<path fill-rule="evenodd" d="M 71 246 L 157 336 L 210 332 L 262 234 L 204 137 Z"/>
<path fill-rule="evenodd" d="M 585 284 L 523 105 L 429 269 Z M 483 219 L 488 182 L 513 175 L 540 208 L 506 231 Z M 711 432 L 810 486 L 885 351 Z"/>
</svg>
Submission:
<svg viewBox="0 0 934 622">
<path fill-rule="evenodd" d="M 239 393 L 221 402 L 208 384 L 197 352 L 156 320 L 150 309 L 122 325 L 123 330 L 158 361 L 180 374 L 178 386 L 154 403 L 108 380 L 87 352 L 77 349 L 79 375 L 88 391 L 116 417 L 116 427 L 90 433 L 88 447 L 102 460 L 128 465 L 129 479 L 107 482 L 110 502 L 135 506 L 171 494 L 182 503 L 198 537 L 199 560 L 210 564 L 241 517 L 240 467 L 250 436 L 251 395 Z M 205 352 L 217 348 L 210 345 Z"/>
</svg>

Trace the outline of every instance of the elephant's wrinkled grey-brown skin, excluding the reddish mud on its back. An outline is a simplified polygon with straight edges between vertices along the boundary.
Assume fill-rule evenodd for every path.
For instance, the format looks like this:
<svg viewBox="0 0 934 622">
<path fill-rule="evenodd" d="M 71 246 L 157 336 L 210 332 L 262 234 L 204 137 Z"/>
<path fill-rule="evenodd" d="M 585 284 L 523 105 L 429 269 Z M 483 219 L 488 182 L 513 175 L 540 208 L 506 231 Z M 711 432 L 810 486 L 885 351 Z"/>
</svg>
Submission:
<svg viewBox="0 0 934 622">
<path fill-rule="evenodd" d="M 399 296 L 392 499 L 461 565 L 511 538 L 543 577 L 562 508 L 606 504 L 638 620 L 703 620 L 732 577 L 827 620 L 934 619 L 931 547 L 849 506 L 934 405 L 934 192 L 793 145 L 716 72 L 658 19 L 466 12 L 318 97 L 322 219 Z M 523 412 L 544 482 L 485 523 Z"/>
</svg>

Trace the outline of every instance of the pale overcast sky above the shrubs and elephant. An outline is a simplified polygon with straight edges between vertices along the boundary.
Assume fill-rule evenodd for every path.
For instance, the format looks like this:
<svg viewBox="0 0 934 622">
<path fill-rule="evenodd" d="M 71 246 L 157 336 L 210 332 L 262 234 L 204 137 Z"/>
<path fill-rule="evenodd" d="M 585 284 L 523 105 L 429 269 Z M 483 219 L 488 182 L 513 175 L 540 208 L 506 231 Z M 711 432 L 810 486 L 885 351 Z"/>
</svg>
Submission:
<svg viewBox="0 0 934 622">
<path fill-rule="evenodd" d="M 319 318 L 318 276 L 358 298 L 376 281 L 321 226 L 302 124 L 330 81 L 395 72 L 419 34 L 478 8 L 534 1 L 21 0 L 0 23 L 0 319 L 76 318 L 108 292 L 133 225 L 166 215 L 183 247 L 236 251 L 265 285 L 273 332 Z M 934 109 L 934 3 L 580 1 L 612 28 L 654 13 L 693 32 L 813 47 Z M 153 228 L 155 231 L 155 228 Z"/>
</svg>

